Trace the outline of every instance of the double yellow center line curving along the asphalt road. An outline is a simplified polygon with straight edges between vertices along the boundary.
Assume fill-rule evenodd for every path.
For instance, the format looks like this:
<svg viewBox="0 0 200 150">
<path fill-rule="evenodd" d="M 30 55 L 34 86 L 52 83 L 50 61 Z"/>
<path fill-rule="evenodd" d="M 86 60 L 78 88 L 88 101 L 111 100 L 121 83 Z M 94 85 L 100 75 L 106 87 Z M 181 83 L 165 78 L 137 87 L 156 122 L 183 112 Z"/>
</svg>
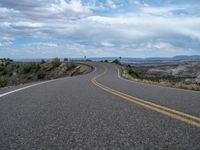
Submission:
<svg viewBox="0 0 200 150">
<path fill-rule="evenodd" d="M 123 98 L 123 99 L 125 99 L 129 102 L 138 104 L 138 105 L 143 106 L 145 108 L 151 109 L 153 111 L 159 112 L 159 113 L 164 114 L 168 117 L 183 121 L 185 123 L 194 125 L 196 127 L 200 127 L 200 118 L 199 117 L 192 116 L 192 115 L 189 115 L 189 114 L 186 114 L 186 113 L 183 113 L 183 112 L 171 109 L 171 108 L 167 108 L 165 106 L 154 104 L 152 102 L 145 101 L 143 99 L 122 93 L 122 92 L 117 91 L 117 90 L 114 90 L 110 87 L 107 87 L 107 86 L 97 82 L 96 79 L 103 76 L 104 74 L 106 74 L 107 71 L 108 71 L 108 69 L 105 67 L 105 70 L 104 70 L 103 73 L 101 73 L 98 76 L 91 79 L 92 83 L 94 85 L 96 85 L 97 87 L 103 89 L 104 91 L 107 91 L 107 92 L 109 92 L 113 95 L 121 97 L 121 98 Z"/>
</svg>

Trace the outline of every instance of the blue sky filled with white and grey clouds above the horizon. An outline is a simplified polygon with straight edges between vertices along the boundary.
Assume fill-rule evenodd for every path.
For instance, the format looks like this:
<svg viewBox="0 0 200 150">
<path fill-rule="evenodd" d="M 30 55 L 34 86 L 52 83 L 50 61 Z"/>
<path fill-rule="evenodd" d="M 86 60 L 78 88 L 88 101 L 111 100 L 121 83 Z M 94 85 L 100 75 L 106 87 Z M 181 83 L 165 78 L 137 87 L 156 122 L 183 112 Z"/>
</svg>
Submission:
<svg viewBox="0 0 200 150">
<path fill-rule="evenodd" d="M 200 0 L 0 0 L 0 57 L 200 55 Z"/>
</svg>

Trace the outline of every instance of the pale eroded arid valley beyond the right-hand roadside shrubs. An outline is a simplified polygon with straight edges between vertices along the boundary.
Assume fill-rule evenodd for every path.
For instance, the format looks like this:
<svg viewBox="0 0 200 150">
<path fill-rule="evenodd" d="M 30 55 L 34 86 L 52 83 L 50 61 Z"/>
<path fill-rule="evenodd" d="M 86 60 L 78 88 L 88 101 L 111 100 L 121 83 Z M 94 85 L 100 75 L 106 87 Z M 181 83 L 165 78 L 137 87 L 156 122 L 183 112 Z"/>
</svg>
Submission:
<svg viewBox="0 0 200 150">
<path fill-rule="evenodd" d="M 200 83 L 200 62 L 181 61 L 133 64 L 139 74 L 159 81 Z"/>
</svg>

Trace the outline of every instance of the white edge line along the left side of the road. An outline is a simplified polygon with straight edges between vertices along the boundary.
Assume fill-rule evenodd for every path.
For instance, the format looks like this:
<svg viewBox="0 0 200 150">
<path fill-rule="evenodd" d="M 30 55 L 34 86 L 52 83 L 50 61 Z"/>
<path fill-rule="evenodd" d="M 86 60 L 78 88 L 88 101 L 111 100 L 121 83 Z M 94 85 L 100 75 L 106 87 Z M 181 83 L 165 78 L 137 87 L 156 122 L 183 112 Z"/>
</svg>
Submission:
<svg viewBox="0 0 200 150">
<path fill-rule="evenodd" d="M 93 67 L 94 67 L 94 66 L 93 66 Z M 94 70 L 93 70 L 92 72 L 96 72 L 96 70 L 97 70 L 96 67 L 94 67 Z M 91 73 L 92 73 L 92 72 L 91 72 Z M 31 88 L 31 87 L 34 87 L 34 86 L 38 86 L 38 85 L 41 85 L 41 84 L 50 83 L 50 82 L 54 82 L 54 81 L 58 81 L 58 80 L 62 80 L 62 79 L 64 79 L 64 78 L 48 80 L 48 81 L 44 81 L 44 82 L 32 84 L 32 85 L 29 85 L 29 86 L 25 86 L 25 87 L 22 87 L 22 88 L 13 90 L 13 91 L 9 91 L 9 92 L 0 94 L 0 97 L 4 97 L 4 96 L 6 96 L 6 95 L 9 95 L 9 94 L 12 94 L 12 93 L 16 93 L 16 92 L 18 92 L 18 91 L 22 91 L 22 90 L 25 90 L 25 89 L 28 89 L 28 88 Z"/>
</svg>

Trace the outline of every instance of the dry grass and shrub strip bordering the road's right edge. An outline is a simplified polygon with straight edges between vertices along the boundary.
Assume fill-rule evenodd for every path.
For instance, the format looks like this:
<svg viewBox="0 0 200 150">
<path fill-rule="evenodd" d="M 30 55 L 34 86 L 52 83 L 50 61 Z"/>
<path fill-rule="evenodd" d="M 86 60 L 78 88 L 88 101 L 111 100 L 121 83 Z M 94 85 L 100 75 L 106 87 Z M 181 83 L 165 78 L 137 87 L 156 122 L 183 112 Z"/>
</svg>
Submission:
<svg viewBox="0 0 200 150">
<path fill-rule="evenodd" d="M 171 81 L 170 79 L 157 79 L 154 77 L 145 76 L 142 72 L 137 71 L 131 65 L 125 65 L 122 67 L 122 77 L 128 80 L 139 81 L 147 84 L 155 84 L 160 86 L 166 87 L 173 87 L 173 88 L 180 88 L 180 89 L 188 89 L 188 90 L 195 90 L 200 91 L 200 84 L 199 83 L 189 83 L 189 82 L 182 82 L 182 81 Z"/>
</svg>

